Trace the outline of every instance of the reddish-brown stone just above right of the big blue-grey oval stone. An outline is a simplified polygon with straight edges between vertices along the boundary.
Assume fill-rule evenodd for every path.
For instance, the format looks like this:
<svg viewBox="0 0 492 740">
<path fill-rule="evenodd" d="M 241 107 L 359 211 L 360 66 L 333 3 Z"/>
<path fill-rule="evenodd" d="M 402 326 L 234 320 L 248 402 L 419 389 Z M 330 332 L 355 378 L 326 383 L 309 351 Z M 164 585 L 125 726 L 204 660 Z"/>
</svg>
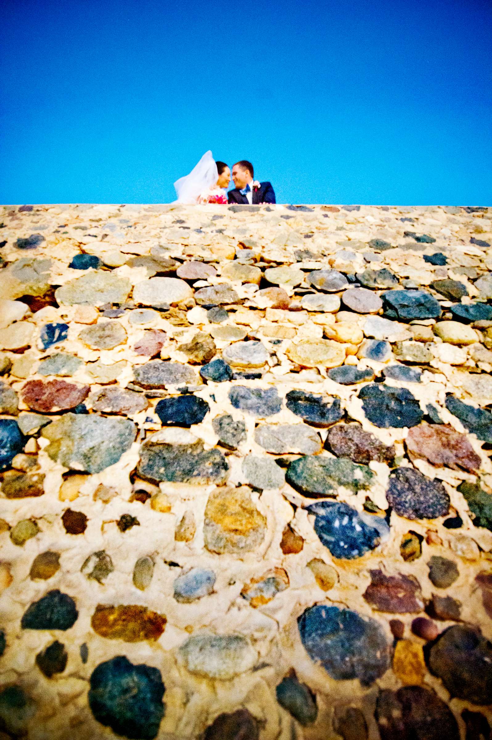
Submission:
<svg viewBox="0 0 492 740">
<path fill-rule="evenodd" d="M 363 598 L 374 609 L 394 614 L 422 611 L 424 602 L 420 585 L 414 576 L 397 573 L 386 576 L 383 571 L 369 571 L 371 584 L 365 589 Z"/>
</svg>

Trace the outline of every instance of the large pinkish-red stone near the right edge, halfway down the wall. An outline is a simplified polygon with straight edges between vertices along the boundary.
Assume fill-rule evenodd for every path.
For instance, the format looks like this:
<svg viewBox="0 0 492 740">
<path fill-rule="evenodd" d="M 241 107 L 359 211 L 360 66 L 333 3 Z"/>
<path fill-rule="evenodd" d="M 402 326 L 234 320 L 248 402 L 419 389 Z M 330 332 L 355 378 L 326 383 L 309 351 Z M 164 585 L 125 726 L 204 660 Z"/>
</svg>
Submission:
<svg viewBox="0 0 492 740">
<path fill-rule="evenodd" d="M 446 465 L 454 470 L 462 468 L 470 473 L 480 467 L 480 457 L 466 435 L 448 425 L 414 426 L 408 431 L 405 444 L 411 460 L 427 460 L 431 465 Z"/>
</svg>

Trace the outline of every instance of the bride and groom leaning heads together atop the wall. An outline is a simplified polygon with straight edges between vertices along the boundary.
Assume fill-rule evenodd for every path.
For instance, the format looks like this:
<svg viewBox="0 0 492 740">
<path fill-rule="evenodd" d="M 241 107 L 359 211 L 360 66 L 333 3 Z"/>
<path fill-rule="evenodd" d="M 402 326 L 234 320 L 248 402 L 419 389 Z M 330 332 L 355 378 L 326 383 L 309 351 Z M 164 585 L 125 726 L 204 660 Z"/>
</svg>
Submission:
<svg viewBox="0 0 492 740">
<path fill-rule="evenodd" d="M 254 180 L 251 162 L 242 159 L 232 167 L 235 188 L 227 192 L 231 170 L 225 162 L 215 162 L 212 152 L 206 152 L 189 175 L 175 182 L 178 200 L 175 203 L 275 203 L 272 183 Z"/>
</svg>

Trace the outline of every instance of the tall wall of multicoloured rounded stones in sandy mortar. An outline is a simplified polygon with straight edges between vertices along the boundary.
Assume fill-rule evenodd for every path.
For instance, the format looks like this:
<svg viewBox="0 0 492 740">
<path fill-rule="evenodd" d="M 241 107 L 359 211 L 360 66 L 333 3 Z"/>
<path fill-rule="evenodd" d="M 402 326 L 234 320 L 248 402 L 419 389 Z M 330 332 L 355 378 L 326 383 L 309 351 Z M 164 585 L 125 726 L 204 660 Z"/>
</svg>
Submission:
<svg viewBox="0 0 492 740">
<path fill-rule="evenodd" d="M 4 207 L 2 740 L 490 737 L 491 216 Z"/>
</svg>

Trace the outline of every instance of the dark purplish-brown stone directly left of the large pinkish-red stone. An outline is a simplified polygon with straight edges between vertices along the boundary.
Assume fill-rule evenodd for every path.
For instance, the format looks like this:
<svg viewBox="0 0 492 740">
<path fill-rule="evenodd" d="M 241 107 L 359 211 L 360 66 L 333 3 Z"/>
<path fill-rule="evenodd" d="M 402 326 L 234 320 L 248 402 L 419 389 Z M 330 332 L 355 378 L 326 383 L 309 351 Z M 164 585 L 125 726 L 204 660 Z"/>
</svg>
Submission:
<svg viewBox="0 0 492 740">
<path fill-rule="evenodd" d="M 391 465 L 395 456 L 393 445 L 383 444 L 374 434 L 364 431 L 358 422 L 332 426 L 328 430 L 326 447 L 337 457 L 348 457 L 363 465 L 368 465 L 371 460 Z"/>
</svg>

